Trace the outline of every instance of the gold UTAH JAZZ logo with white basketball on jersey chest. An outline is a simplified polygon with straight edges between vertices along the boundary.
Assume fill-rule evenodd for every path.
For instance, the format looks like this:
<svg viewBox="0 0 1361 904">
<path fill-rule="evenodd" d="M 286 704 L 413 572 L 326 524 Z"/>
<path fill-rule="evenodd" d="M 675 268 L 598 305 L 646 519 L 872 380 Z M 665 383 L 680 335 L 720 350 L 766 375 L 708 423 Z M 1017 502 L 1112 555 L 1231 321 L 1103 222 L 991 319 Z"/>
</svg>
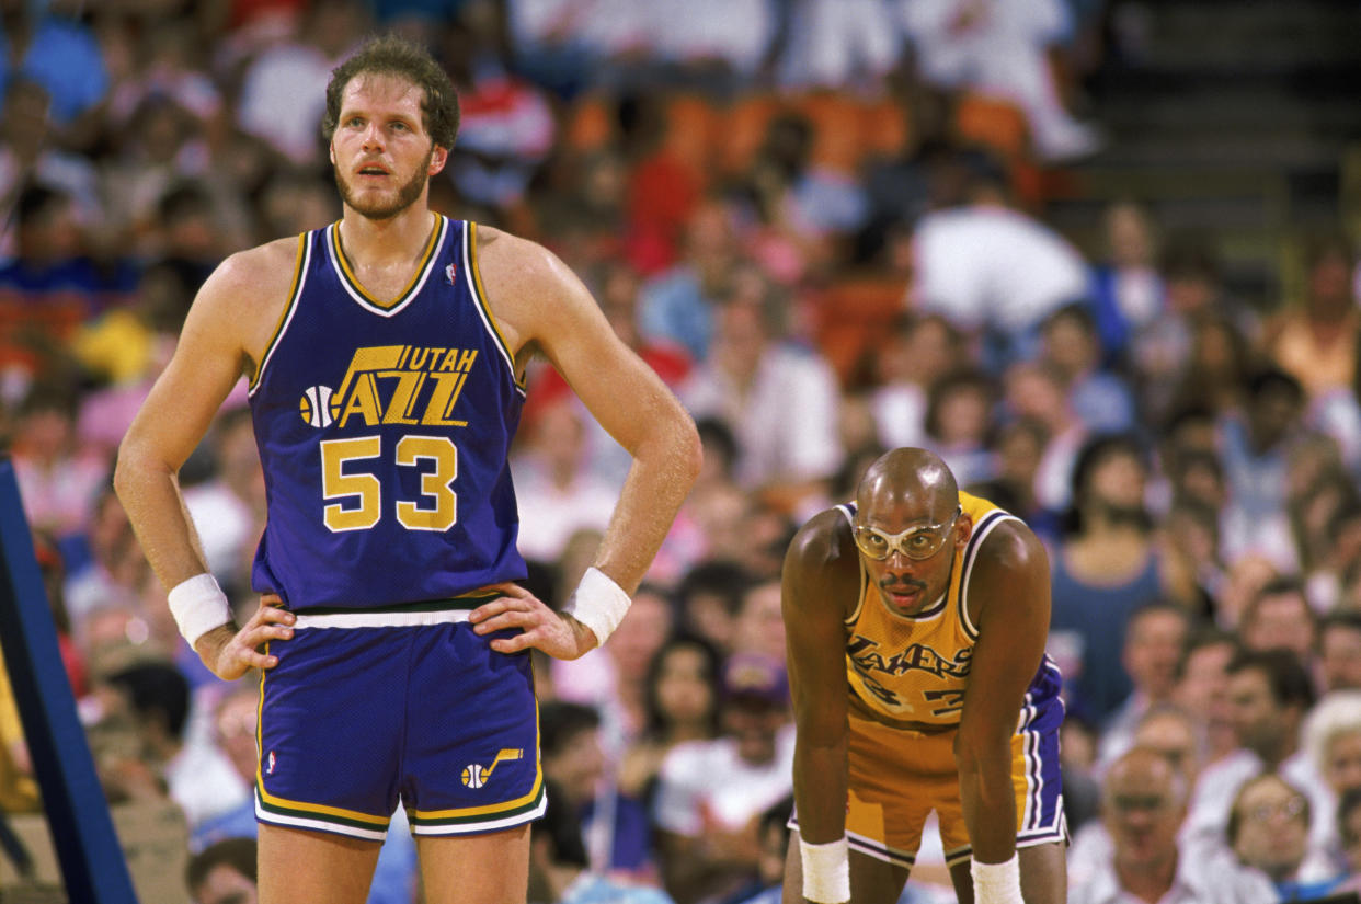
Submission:
<svg viewBox="0 0 1361 904">
<path fill-rule="evenodd" d="M 476 349 L 442 346 L 367 346 L 355 349 L 340 388 L 308 387 L 298 403 L 313 427 L 351 419 L 365 426 L 421 423 L 467 426 L 455 421 L 453 406 L 478 359 Z"/>
</svg>

